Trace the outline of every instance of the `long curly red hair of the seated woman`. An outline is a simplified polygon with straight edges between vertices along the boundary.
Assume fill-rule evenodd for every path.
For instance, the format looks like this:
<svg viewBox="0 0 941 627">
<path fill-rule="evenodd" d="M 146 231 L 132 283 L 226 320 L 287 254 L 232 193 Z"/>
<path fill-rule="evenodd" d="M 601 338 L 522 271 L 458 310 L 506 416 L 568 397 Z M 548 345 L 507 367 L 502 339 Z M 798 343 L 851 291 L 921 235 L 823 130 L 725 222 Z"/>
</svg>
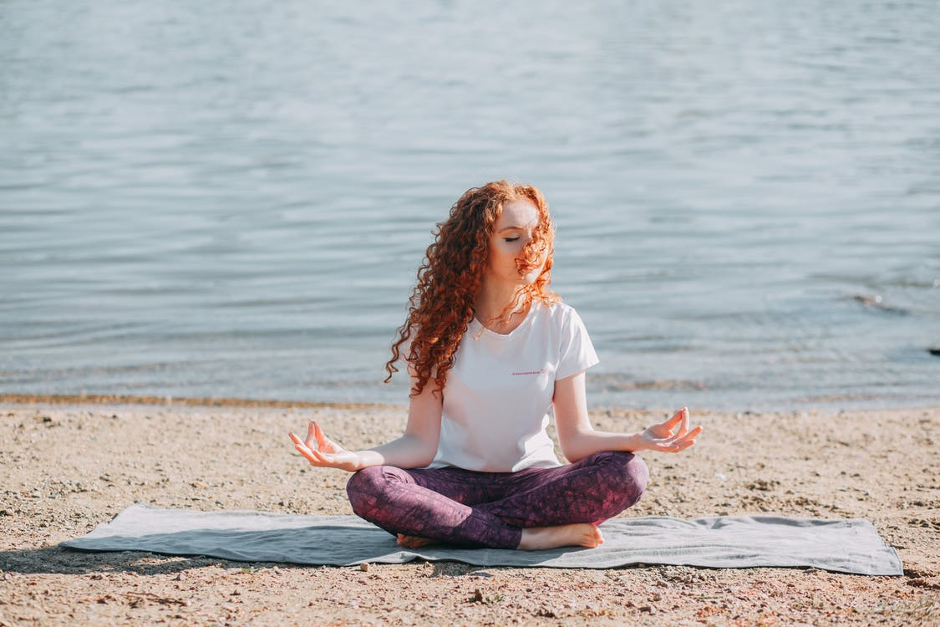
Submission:
<svg viewBox="0 0 941 627">
<path fill-rule="evenodd" d="M 418 282 L 409 299 L 408 316 L 397 331 L 392 359 L 386 363 L 389 373 L 386 383 L 398 372 L 395 363 L 401 356 L 399 348 L 411 340 L 408 355 L 404 356 L 415 375 L 410 395 L 421 394 L 432 378 L 438 386 L 435 392 L 440 395 L 461 338 L 474 319 L 493 225 L 503 207 L 518 200 L 532 202 L 539 223 L 523 248 L 522 258 L 517 259 L 517 267 L 525 274 L 538 267 L 543 258 L 545 261 L 536 280 L 521 287 L 515 301 L 494 320 L 505 320 L 515 312 L 525 311 L 534 300 L 547 305 L 561 300 L 549 290 L 554 229 L 542 192 L 532 185 L 514 185 L 503 180 L 472 187 L 454 203 L 448 219 L 437 224 L 435 241 L 425 251 Z"/>
</svg>

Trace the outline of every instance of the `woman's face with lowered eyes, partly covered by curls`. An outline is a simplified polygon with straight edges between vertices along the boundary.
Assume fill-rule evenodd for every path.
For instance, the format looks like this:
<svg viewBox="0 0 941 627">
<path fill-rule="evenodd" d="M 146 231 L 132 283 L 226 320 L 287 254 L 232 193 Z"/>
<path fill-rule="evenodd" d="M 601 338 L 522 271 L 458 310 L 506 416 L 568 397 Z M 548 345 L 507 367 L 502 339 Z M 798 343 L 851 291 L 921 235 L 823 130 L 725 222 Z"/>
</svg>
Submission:
<svg viewBox="0 0 941 627">
<path fill-rule="evenodd" d="M 535 281 L 546 262 L 545 253 L 535 267 L 520 268 L 517 259 L 524 259 L 523 247 L 533 239 L 539 226 L 539 212 L 528 200 L 515 200 L 503 206 L 503 212 L 490 236 L 490 259 L 487 279 L 512 285 L 529 285 Z"/>
</svg>

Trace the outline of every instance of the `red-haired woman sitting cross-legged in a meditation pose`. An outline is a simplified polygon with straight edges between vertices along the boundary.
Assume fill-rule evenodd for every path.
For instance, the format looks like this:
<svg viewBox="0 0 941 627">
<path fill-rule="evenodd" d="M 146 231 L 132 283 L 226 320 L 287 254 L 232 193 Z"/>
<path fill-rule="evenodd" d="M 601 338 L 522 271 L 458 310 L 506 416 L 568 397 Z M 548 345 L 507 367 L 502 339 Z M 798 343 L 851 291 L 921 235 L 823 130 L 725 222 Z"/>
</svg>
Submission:
<svg viewBox="0 0 941 627">
<path fill-rule="evenodd" d="M 689 412 L 643 432 L 595 431 L 585 369 L 598 363 L 574 309 L 549 291 L 553 228 L 542 193 L 471 188 L 438 225 L 386 364 L 411 376 L 405 434 L 349 451 L 311 422 L 291 433 L 314 466 L 353 472 L 353 511 L 417 548 L 595 547 L 598 525 L 647 484 L 642 450 L 693 445 Z M 554 409 L 561 465 L 546 434 Z"/>
</svg>

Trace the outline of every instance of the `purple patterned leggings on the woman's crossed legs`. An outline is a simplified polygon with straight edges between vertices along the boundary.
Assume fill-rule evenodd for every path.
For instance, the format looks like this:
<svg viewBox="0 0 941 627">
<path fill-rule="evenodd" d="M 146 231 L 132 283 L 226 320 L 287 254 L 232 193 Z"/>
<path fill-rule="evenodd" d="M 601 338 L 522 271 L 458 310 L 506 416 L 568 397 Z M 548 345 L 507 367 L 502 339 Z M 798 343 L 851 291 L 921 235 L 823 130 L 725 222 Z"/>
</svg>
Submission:
<svg viewBox="0 0 941 627">
<path fill-rule="evenodd" d="M 396 535 L 467 547 L 515 549 L 524 527 L 594 523 L 640 499 L 644 461 L 601 451 L 557 468 L 477 472 L 371 466 L 346 484 L 353 512 Z"/>
</svg>

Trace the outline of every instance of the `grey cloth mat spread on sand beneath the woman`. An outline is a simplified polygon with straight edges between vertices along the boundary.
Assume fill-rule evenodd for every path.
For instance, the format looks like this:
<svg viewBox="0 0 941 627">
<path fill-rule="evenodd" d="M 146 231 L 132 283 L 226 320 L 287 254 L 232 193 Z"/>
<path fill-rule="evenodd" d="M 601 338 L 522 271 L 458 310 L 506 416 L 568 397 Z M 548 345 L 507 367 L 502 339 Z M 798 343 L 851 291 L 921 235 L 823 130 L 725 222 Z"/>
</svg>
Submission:
<svg viewBox="0 0 941 627">
<path fill-rule="evenodd" d="M 422 558 L 477 566 L 784 566 L 858 575 L 902 574 L 902 561 L 895 549 L 886 546 L 871 523 L 859 519 L 720 516 L 680 520 L 644 516 L 613 518 L 600 528 L 605 542 L 594 549 L 403 549 L 391 534 L 355 516 L 200 512 L 135 504 L 88 535 L 60 546 L 335 566 L 401 564 Z"/>
</svg>

